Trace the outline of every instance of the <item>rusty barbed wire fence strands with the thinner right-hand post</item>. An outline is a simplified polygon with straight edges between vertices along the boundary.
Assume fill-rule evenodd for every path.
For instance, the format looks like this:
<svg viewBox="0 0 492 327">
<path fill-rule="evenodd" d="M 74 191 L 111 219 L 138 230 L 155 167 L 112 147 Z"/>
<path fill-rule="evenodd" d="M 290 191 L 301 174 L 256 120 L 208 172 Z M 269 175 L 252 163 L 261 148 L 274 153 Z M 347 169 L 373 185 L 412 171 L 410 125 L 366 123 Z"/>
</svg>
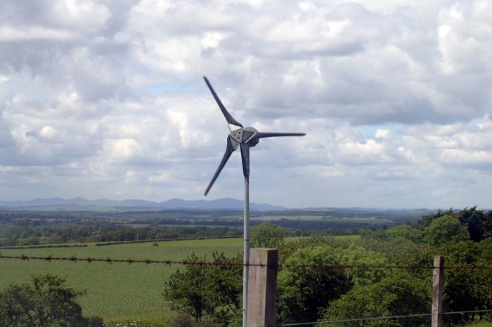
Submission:
<svg viewBox="0 0 492 327">
<path fill-rule="evenodd" d="M 442 264 L 439 264 L 439 261 L 436 261 L 437 258 L 441 258 Z M 463 265 L 463 266 L 446 266 L 444 267 L 444 258 L 443 257 L 435 257 L 434 265 L 428 266 L 406 266 L 406 265 L 326 265 L 326 264 L 306 264 L 306 265 L 290 265 L 290 264 L 268 264 L 264 262 L 260 263 L 248 263 L 244 264 L 242 262 L 219 262 L 219 261 L 196 261 L 196 260 L 152 260 L 152 259 L 113 259 L 113 258 L 79 258 L 77 255 L 72 255 L 70 257 L 55 257 L 53 255 L 46 256 L 30 256 L 30 255 L 4 255 L 0 253 L 0 260 L 22 260 L 22 261 L 30 261 L 30 260 L 43 260 L 46 262 L 60 262 L 60 261 L 69 261 L 69 262 L 87 262 L 91 264 L 92 262 L 105 262 L 109 264 L 120 264 L 124 263 L 127 265 L 132 264 L 145 264 L 145 265 L 197 265 L 197 266 L 222 266 L 222 267 L 239 267 L 239 266 L 249 266 L 255 268 L 266 268 L 273 269 L 275 272 L 278 271 L 279 268 L 298 268 L 298 269 L 406 269 L 406 270 L 417 270 L 417 269 L 427 269 L 434 271 L 433 277 L 433 307 L 432 313 L 422 313 L 422 314 L 410 314 L 410 315 L 399 315 L 399 316 L 377 316 L 377 317 L 369 317 L 369 318 L 358 318 L 358 319 L 343 319 L 343 320 L 332 320 L 332 321 L 312 321 L 312 322 L 303 322 L 303 323 L 287 323 L 287 324 L 275 324 L 275 316 L 271 316 L 270 313 L 270 322 L 268 324 L 258 325 L 258 326 L 274 326 L 274 327 L 289 327 L 289 326 L 315 326 L 315 325 L 330 325 L 335 323 L 351 323 L 351 322 L 363 322 L 363 321 L 375 321 L 382 319 L 405 319 L 412 317 L 420 317 L 420 316 L 430 316 L 432 317 L 432 326 L 441 326 L 438 321 L 442 319 L 444 315 L 451 314 L 479 314 L 479 313 L 487 313 L 492 312 L 492 309 L 477 309 L 471 311 L 460 311 L 460 312 L 442 312 L 442 304 L 439 305 L 439 302 L 442 303 L 442 293 L 444 292 L 443 281 L 439 280 L 439 274 L 444 276 L 444 269 L 466 269 L 466 270 L 491 270 L 492 266 L 474 266 L 474 265 Z M 250 262 L 254 262 L 254 258 Z M 264 282 L 264 281 L 263 281 Z M 268 288 L 268 287 L 267 287 Z M 276 290 L 275 290 L 276 292 Z M 435 293 L 435 294 L 434 294 Z M 435 296 L 434 296 L 435 295 Z M 266 295 L 260 295 L 266 297 Z M 272 298 L 271 296 L 269 298 Z M 273 297 L 276 298 L 276 297 Z M 435 303 L 435 305 L 434 305 Z M 268 316 L 268 312 L 261 312 L 259 316 Z M 273 319 L 273 322 L 272 320 Z"/>
</svg>

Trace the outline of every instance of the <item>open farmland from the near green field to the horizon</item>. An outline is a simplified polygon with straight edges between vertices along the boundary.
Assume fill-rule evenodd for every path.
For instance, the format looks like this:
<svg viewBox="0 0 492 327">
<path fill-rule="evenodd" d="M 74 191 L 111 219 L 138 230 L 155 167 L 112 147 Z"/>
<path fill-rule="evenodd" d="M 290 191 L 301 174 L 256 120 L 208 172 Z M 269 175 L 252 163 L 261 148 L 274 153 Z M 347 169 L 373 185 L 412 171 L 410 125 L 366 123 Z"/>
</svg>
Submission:
<svg viewBox="0 0 492 327">
<path fill-rule="evenodd" d="M 252 226 L 272 222 L 283 227 L 286 236 L 324 234 L 345 239 L 358 237 L 351 234 L 365 228 L 382 229 L 403 220 L 403 215 L 375 217 L 324 211 L 256 212 L 251 216 Z M 240 211 L 4 211 L 0 212 L 0 224 L 2 255 L 181 261 L 192 253 L 212 258 L 214 252 L 242 252 Z M 96 246 L 105 242 L 118 244 Z M 53 243 L 83 247 L 50 247 Z M 163 284 L 176 269 L 183 267 L 55 260 L 0 262 L 0 289 L 11 283 L 27 282 L 34 274 L 55 274 L 66 279 L 67 286 L 86 291 L 78 300 L 84 316 L 101 316 L 108 324 L 141 319 L 165 325 L 175 313 L 164 301 Z"/>
</svg>

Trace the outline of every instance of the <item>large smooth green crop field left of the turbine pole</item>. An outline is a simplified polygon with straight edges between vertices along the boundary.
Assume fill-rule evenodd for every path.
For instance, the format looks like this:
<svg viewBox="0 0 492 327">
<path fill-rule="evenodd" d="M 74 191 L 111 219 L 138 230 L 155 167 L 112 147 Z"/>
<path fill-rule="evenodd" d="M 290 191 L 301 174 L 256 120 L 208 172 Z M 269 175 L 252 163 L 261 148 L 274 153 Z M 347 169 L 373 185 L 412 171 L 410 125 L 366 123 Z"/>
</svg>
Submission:
<svg viewBox="0 0 492 327">
<path fill-rule="evenodd" d="M 1 250 L 1 254 L 179 261 L 193 252 L 198 256 L 212 258 L 214 251 L 226 255 L 242 251 L 242 239 L 167 241 L 159 243 L 160 246 L 152 244 Z M 165 321 L 171 312 L 161 295 L 163 283 L 179 267 L 183 266 L 1 259 L 0 289 L 11 283 L 29 281 L 32 274 L 56 274 L 66 279 L 68 286 L 87 291 L 87 295 L 79 299 L 85 316 L 101 316 L 107 323 L 126 319 Z"/>
</svg>

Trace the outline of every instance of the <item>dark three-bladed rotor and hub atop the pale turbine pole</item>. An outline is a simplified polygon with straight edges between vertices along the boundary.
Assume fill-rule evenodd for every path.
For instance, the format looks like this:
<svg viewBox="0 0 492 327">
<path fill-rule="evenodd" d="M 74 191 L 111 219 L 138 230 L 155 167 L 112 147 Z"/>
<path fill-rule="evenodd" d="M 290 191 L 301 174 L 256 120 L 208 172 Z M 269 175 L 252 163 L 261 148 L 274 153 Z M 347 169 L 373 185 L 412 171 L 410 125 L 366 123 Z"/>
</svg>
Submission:
<svg viewBox="0 0 492 327">
<path fill-rule="evenodd" d="M 277 136 L 303 136 L 306 135 L 304 133 L 261 133 L 257 131 L 256 128 L 253 127 L 242 127 L 242 125 L 236 121 L 231 114 L 227 111 L 226 107 L 222 104 L 221 100 L 217 96 L 212 88 L 212 85 L 209 83 L 207 77 L 203 76 L 205 79 L 205 83 L 209 87 L 210 92 L 214 95 L 214 98 L 221 109 L 222 114 L 226 118 L 227 124 L 229 126 L 229 131 L 231 133 L 227 137 L 227 146 L 226 153 L 222 157 L 222 161 L 219 164 L 219 168 L 217 168 L 212 181 L 209 183 L 209 186 L 205 190 L 205 195 L 209 192 L 212 185 L 214 185 L 215 180 L 221 173 L 222 168 L 226 165 L 231 154 L 238 149 L 241 148 L 241 161 L 242 161 L 242 173 L 245 176 L 245 179 L 250 177 L 250 147 L 254 147 L 258 144 L 260 138 L 273 138 Z"/>
</svg>

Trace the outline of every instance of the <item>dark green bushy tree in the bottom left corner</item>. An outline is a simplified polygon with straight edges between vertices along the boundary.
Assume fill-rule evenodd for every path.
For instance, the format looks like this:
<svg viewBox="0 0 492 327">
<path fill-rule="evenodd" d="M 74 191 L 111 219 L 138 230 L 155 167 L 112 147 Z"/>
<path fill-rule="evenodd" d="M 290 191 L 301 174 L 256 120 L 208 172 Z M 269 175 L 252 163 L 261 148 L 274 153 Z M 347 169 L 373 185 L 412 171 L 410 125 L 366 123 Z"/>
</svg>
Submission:
<svg viewBox="0 0 492 327">
<path fill-rule="evenodd" d="M 84 291 L 67 288 L 58 276 L 33 276 L 0 293 L 0 326 L 89 326 L 75 302 Z"/>
</svg>

